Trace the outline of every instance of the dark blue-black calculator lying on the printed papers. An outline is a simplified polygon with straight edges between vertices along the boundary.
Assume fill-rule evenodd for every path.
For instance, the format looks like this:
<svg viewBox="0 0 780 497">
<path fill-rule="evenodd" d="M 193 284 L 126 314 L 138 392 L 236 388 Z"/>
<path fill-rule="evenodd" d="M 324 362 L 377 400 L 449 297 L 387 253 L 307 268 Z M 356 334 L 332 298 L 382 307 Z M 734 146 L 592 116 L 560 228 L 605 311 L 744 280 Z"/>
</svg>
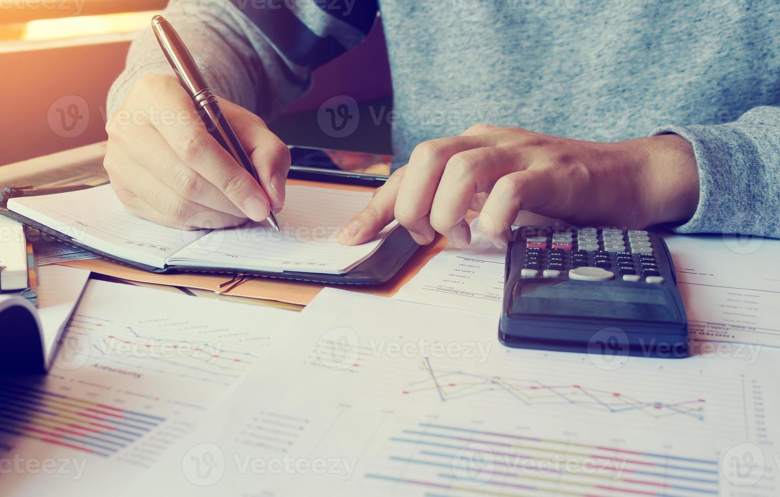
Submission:
<svg viewBox="0 0 780 497">
<path fill-rule="evenodd" d="M 506 250 L 498 338 L 509 347 L 687 355 L 675 266 L 657 233 L 524 226 Z"/>
</svg>

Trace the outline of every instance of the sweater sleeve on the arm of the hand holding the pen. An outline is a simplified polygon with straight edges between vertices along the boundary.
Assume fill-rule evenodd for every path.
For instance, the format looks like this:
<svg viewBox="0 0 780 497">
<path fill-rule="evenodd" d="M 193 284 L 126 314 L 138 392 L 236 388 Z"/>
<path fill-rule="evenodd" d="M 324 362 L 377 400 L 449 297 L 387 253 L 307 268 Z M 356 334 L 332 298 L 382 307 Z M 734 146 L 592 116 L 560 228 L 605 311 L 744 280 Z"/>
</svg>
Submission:
<svg viewBox="0 0 780 497">
<path fill-rule="evenodd" d="M 311 72 L 360 43 L 376 19 L 375 2 L 350 2 L 342 15 L 321 2 L 284 2 L 258 9 L 235 0 L 171 0 L 162 15 L 179 32 L 211 90 L 272 119 L 310 86 Z M 349 9 L 349 10 L 347 10 Z M 372 10 L 373 9 L 373 10 Z M 173 74 L 151 26 L 130 45 L 126 67 L 108 92 L 108 115 L 142 76 Z"/>
</svg>

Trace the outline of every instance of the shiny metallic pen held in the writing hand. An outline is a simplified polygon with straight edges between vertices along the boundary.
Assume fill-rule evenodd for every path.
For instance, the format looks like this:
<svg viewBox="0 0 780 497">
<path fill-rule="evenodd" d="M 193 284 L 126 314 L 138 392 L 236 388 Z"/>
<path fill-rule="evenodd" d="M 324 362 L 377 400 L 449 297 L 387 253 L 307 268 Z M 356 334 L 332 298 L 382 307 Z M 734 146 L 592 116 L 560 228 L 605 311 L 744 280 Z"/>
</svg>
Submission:
<svg viewBox="0 0 780 497">
<path fill-rule="evenodd" d="M 252 174 L 252 178 L 255 179 L 258 185 L 261 185 L 260 177 L 257 176 L 257 171 L 255 171 L 249 155 L 241 145 L 236 132 L 233 131 L 230 123 L 225 119 L 225 115 L 222 114 L 222 109 L 219 108 L 217 103 L 217 97 L 209 89 L 206 79 L 204 79 L 200 69 L 197 68 L 195 60 L 179 37 L 179 33 L 176 33 L 171 23 L 168 23 L 163 16 L 154 16 L 151 19 L 151 26 L 163 53 L 165 53 L 165 58 L 168 58 L 173 72 L 176 72 L 176 76 L 179 76 L 182 86 L 184 86 L 186 92 L 193 99 L 198 115 L 203 119 L 209 134 L 214 136 L 218 143 L 236 159 L 236 162 L 246 169 L 246 172 Z M 263 188 L 263 185 L 261 185 L 261 188 Z M 276 231 L 281 231 L 273 210 L 268 213 L 266 220 Z"/>
</svg>

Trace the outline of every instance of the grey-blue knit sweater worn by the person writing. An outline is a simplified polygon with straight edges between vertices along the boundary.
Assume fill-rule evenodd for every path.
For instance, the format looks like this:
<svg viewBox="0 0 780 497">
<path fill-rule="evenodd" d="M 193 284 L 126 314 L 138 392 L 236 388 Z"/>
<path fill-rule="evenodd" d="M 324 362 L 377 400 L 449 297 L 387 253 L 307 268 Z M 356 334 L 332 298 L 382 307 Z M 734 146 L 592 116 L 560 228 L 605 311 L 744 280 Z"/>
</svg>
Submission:
<svg viewBox="0 0 780 497">
<path fill-rule="evenodd" d="M 172 0 L 165 16 L 214 90 L 268 119 L 377 12 L 397 163 L 476 122 L 596 141 L 673 132 L 700 176 L 676 231 L 780 238 L 776 0 Z M 109 112 L 155 72 L 171 70 L 146 30 Z"/>
</svg>

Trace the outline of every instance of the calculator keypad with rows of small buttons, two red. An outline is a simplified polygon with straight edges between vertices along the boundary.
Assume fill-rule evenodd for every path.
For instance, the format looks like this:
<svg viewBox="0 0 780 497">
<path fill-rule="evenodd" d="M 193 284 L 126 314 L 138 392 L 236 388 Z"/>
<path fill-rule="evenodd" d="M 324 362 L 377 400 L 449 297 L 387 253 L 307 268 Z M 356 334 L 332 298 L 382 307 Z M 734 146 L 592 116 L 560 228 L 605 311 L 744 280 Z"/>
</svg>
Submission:
<svg viewBox="0 0 780 497">
<path fill-rule="evenodd" d="M 527 236 L 521 276 L 664 282 L 647 231 L 590 227 Z"/>
</svg>

